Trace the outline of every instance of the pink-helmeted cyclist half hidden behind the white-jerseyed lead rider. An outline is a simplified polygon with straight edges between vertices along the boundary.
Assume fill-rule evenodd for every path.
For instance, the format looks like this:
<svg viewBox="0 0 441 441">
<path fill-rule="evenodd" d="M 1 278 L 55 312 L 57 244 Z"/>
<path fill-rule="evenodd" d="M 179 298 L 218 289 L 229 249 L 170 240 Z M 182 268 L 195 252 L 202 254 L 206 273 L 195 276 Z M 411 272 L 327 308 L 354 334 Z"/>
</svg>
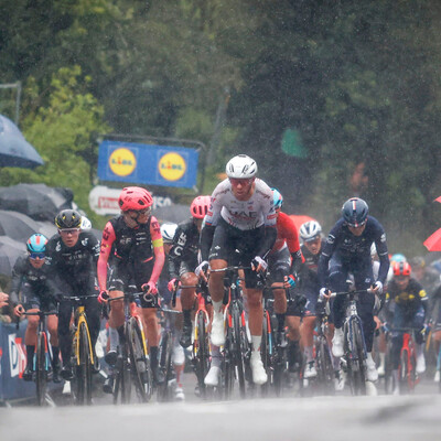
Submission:
<svg viewBox="0 0 441 441">
<path fill-rule="evenodd" d="M 192 218 L 178 226 L 173 246 L 169 254 L 170 282 L 169 290 L 173 291 L 180 279 L 183 286 L 194 287 L 198 282 L 201 272 L 196 276 L 195 268 L 198 265 L 200 237 L 202 223 L 209 207 L 209 196 L 197 196 L 193 200 L 190 212 Z M 181 290 L 182 312 L 184 324 L 182 329 L 181 345 L 189 347 L 192 344 L 192 311 L 196 299 L 195 288 Z"/>
</svg>

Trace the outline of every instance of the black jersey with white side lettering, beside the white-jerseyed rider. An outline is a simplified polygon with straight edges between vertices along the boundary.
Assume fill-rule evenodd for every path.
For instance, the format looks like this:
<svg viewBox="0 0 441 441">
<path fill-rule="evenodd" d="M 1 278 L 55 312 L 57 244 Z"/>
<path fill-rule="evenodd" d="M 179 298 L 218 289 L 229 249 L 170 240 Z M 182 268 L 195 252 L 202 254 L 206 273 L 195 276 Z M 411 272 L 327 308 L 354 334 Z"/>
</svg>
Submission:
<svg viewBox="0 0 441 441">
<path fill-rule="evenodd" d="M 180 276 L 181 263 L 189 263 L 193 270 L 197 266 L 200 232 L 193 219 L 179 224 L 173 237 L 173 246 L 168 256 L 169 272 L 172 279 Z"/>
</svg>

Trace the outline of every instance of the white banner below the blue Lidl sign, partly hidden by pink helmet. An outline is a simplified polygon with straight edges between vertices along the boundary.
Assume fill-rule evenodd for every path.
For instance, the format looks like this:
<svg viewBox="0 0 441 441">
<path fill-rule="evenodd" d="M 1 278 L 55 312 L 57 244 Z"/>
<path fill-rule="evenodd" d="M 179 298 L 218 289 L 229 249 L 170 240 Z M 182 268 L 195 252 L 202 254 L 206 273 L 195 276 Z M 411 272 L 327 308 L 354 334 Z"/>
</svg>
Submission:
<svg viewBox="0 0 441 441">
<path fill-rule="evenodd" d="M 89 193 L 90 208 L 101 216 L 118 215 L 120 213 L 118 197 L 122 189 L 109 189 L 105 185 L 97 185 Z M 170 197 L 153 195 L 153 214 L 155 208 L 173 205 Z"/>
</svg>

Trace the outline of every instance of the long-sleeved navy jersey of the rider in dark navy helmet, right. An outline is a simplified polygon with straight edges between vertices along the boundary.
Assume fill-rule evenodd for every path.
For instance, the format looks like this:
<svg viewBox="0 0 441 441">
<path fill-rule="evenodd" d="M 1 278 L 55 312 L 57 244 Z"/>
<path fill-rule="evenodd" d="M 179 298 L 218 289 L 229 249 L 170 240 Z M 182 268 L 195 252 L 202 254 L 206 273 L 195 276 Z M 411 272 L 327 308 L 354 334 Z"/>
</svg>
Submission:
<svg viewBox="0 0 441 441">
<path fill-rule="evenodd" d="M 367 216 L 366 227 L 361 236 L 353 235 L 343 218 L 338 219 L 331 229 L 323 244 L 319 260 L 319 280 L 322 287 L 326 286 L 327 269 L 331 256 L 338 254 L 342 261 L 354 263 L 356 260 L 370 260 L 370 246 L 375 243 L 380 262 L 378 280 L 385 284 L 389 269 L 389 257 L 386 245 L 386 234 L 381 224 L 372 216 Z"/>
</svg>

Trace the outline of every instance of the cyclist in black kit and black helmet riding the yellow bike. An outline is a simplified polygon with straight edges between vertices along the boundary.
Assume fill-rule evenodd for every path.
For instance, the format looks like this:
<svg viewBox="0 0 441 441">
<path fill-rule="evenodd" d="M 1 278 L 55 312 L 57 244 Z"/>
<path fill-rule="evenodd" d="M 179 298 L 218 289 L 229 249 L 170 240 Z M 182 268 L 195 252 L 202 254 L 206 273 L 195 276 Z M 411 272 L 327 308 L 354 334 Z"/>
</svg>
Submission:
<svg viewBox="0 0 441 441">
<path fill-rule="evenodd" d="M 99 257 L 99 241 L 90 232 L 82 232 L 82 215 L 76 209 L 63 209 L 55 217 L 58 233 L 46 245 L 45 265 L 50 271 L 50 282 L 58 305 L 58 340 L 63 358 L 61 375 L 65 380 L 73 378 L 71 366 L 71 316 L 72 302 L 64 297 L 93 295 L 97 293 L 96 263 Z M 96 299 L 85 300 L 85 309 L 90 331 L 92 347 L 99 334 L 100 310 Z M 94 370 L 99 370 L 94 356 Z"/>
</svg>

